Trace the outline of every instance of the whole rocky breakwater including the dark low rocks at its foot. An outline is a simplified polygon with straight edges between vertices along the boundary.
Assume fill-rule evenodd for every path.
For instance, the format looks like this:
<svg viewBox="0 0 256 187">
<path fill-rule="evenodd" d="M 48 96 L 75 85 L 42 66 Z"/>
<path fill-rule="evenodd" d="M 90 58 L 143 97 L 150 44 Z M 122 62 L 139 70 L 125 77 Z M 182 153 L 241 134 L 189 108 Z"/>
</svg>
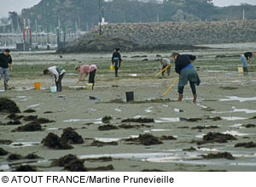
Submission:
<svg viewBox="0 0 256 187">
<path fill-rule="evenodd" d="M 193 45 L 256 42 L 256 20 L 123 23 L 91 29 L 58 53 L 195 49 Z"/>
</svg>

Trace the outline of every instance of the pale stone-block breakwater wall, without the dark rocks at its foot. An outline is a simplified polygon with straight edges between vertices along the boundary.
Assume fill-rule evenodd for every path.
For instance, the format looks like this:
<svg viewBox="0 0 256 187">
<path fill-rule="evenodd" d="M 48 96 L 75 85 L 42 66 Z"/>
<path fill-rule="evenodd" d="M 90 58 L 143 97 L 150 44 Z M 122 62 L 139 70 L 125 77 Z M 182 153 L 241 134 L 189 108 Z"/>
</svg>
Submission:
<svg viewBox="0 0 256 187">
<path fill-rule="evenodd" d="M 92 39 L 98 33 L 96 26 L 84 37 Z M 256 20 L 108 24 L 102 33 L 140 45 L 256 42 Z"/>
</svg>

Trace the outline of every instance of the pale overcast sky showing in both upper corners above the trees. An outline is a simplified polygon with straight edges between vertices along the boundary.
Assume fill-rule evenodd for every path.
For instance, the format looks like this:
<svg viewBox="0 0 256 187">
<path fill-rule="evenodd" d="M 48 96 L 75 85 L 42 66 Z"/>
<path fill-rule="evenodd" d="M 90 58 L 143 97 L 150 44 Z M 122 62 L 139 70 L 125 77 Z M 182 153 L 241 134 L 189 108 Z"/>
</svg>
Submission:
<svg viewBox="0 0 256 187">
<path fill-rule="evenodd" d="M 22 8 L 30 8 L 40 1 L 41 0 L 0 0 L 0 18 L 7 17 L 9 11 L 15 11 L 20 14 Z M 213 0 L 213 3 L 220 7 L 240 5 L 241 3 L 256 5 L 256 0 Z"/>
</svg>

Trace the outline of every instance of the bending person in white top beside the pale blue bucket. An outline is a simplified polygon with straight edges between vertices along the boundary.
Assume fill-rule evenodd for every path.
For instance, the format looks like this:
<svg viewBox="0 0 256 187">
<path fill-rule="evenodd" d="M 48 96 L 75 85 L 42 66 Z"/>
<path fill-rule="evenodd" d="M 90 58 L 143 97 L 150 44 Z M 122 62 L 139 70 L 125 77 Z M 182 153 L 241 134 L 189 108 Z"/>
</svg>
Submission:
<svg viewBox="0 0 256 187">
<path fill-rule="evenodd" d="M 60 67 L 58 65 L 51 66 L 51 67 L 44 70 L 44 75 L 49 75 L 50 77 L 53 78 L 53 84 L 55 83 L 55 86 L 57 88 L 57 92 L 62 91 L 61 81 L 62 81 L 62 78 L 65 75 L 65 72 L 66 71 L 64 70 L 64 68 Z"/>
</svg>

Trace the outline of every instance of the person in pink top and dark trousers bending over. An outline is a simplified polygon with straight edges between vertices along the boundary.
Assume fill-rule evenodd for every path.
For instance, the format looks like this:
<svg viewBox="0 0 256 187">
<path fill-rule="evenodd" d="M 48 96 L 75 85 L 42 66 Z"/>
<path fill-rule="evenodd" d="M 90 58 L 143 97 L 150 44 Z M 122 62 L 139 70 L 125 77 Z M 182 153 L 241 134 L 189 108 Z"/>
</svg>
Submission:
<svg viewBox="0 0 256 187">
<path fill-rule="evenodd" d="M 79 81 L 75 85 L 79 84 L 84 74 L 85 74 L 85 77 L 87 77 L 89 74 L 89 83 L 92 83 L 92 89 L 93 89 L 95 84 L 96 70 L 97 70 L 96 65 L 76 65 L 75 71 L 79 71 Z"/>
</svg>

